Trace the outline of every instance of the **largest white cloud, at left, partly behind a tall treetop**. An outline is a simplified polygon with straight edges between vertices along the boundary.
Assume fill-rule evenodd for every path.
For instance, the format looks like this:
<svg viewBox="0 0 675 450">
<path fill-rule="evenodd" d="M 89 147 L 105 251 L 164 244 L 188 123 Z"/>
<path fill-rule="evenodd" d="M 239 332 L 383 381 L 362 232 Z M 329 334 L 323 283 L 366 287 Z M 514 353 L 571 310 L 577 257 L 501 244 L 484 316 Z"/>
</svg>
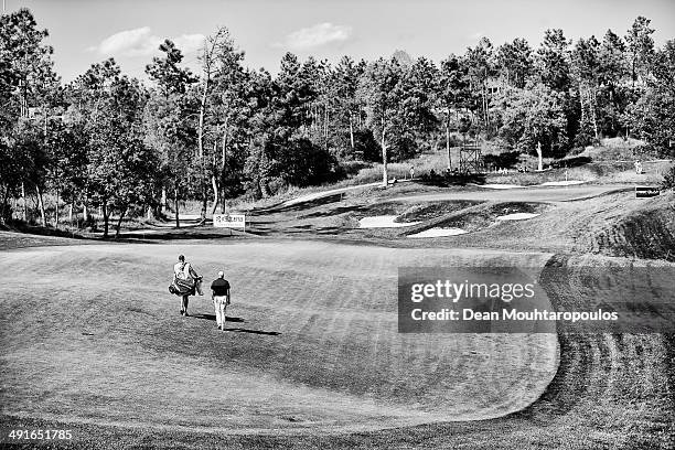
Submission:
<svg viewBox="0 0 675 450">
<path fill-rule="evenodd" d="M 183 54 L 199 50 L 204 42 L 203 34 L 182 34 L 169 39 Z M 88 50 L 106 56 L 147 56 L 159 52 L 163 41 L 163 38 L 152 34 L 150 26 L 142 26 L 115 33 Z"/>
</svg>

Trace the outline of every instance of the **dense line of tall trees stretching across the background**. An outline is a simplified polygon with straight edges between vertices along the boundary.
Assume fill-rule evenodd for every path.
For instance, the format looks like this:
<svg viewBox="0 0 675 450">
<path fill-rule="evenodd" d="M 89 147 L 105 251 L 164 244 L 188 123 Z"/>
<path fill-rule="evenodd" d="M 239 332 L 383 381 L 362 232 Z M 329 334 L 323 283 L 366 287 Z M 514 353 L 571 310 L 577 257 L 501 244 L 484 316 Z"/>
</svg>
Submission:
<svg viewBox="0 0 675 450">
<path fill-rule="evenodd" d="M 245 66 L 226 28 L 200 51 L 199 73 L 170 40 L 143 83 L 114 58 L 63 83 L 28 9 L 0 18 L 0 217 L 58 226 L 63 208 L 90 222 L 161 215 L 181 201 L 202 217 L 228 199 L 345 176 L 352 160 L 404 161 L 458 136 L 504 150 L 564 157 L 603 137 L 644 139 L 673 156 L 675 41 L 654 44 L 649 19 L 623 36 L 567 39 L 547 30 L 500 46 L 483 38 L 436 64 L 392 57 L 336 64 L 287 53 L 276 76 Z M 45 194 L 55 199 L 47 217 Z M 26 197 L 36 199 L 36 211 Z M 14 200 L 14 202 L 10 202 Z M 35 217 L 32 216 L 33 213 Z"/>
</svg>

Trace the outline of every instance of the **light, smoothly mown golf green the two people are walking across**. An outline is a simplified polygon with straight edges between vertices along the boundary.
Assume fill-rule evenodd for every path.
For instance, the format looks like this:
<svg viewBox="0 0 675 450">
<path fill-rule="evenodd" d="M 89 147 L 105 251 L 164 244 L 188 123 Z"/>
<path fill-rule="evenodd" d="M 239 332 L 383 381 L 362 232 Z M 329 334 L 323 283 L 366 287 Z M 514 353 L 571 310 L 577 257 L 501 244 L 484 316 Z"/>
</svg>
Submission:
<svg viewBox="0 0 675 450">
<path fill-rule="evenodd" d="M 185 254 L 233 285 L 191 318 L 167 287 Z M 90 245 L 0 253 L 6 416 L 218 433 L 353 432 L 488 419 L 536 400 L 555 334 L 397 333 L 397 268 L 543 267 L 544 253 L 321 242 Z"/>
</svg>

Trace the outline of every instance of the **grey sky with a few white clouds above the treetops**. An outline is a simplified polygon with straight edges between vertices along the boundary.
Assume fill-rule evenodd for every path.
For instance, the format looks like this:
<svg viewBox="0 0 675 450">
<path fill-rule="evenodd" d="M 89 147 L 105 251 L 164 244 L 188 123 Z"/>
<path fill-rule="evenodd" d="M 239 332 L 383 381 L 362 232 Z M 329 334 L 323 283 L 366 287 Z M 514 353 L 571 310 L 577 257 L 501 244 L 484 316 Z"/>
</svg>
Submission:
<svg viewBox="0 0 675 450">
<path fill-rule="evenodd" d="M 439 62 L 462 54 L 481 36 L 496 46 L 525 38 L 537 47 L 549 28 L 568 39 L 608 29 L 623 36 L 638 15 L 652 20 L 656 45 L 675 39 L 675 0 L 4 0 L 6 11 L 29 8 L 50 32 L 56 72 L 65 82 L 110 56 L 124 73 L 144 77 L 163 39 L 173 40 L 196 68 L 205 35 L 229 30 L 245 64 L 278 72 L 286 52 L 338 62 L 390 56 Z"/>
</svg>

